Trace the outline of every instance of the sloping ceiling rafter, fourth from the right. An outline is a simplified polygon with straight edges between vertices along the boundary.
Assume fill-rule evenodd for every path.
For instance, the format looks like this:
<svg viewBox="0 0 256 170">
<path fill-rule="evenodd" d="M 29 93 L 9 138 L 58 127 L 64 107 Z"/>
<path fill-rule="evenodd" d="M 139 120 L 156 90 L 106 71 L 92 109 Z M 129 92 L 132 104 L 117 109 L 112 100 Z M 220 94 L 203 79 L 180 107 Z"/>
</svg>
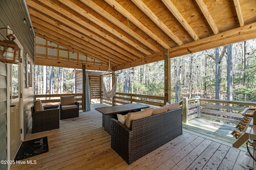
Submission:
<svg viewBox="0 0 256 170">
<path fill-rule="evenodd" d="M 178 45 L 184 43 L 144 4 L 141 0 L 132 0 L 136 6 L 142 10 L 158 27 L 160 27 L 171 39 L 173 39 Z"/>
</svg>

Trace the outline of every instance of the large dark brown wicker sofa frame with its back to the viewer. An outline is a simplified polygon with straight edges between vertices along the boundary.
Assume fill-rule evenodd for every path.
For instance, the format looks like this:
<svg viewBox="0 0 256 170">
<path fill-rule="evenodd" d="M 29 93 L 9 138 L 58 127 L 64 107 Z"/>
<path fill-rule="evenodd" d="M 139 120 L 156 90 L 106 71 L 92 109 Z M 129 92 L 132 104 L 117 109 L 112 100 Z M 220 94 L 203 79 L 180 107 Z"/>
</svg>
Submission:
<svg viewBox="0 0 256 170">
<path fill-rule="evenodd" d="M 111 120 L 111 147 L 128 164 L 182 134 L 182 108 L 134 120 L 130 129 Z"/>
</svg>

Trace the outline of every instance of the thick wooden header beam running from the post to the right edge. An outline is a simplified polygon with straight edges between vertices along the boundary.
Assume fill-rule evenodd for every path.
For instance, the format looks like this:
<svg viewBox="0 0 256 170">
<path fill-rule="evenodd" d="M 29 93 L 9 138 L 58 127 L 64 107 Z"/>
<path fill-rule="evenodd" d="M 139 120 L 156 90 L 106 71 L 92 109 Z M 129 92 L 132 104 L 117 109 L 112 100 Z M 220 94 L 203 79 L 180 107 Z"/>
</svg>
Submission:
<svg viewBox="0 0 256 170">
<path fill-rule="evenodd" d="M 170 49 L 170 57 L 178 57 L 189 53 L 195 53 L 198 51 L 220 47 L 223 45 L 255 39 L 255 32 L 256 22 L 232 29 L 230 31 L 219 33 L 217 35 L 212 35 L 198 41 L 187 43 L 180 47 L 174 47 Z"/>
</svg>

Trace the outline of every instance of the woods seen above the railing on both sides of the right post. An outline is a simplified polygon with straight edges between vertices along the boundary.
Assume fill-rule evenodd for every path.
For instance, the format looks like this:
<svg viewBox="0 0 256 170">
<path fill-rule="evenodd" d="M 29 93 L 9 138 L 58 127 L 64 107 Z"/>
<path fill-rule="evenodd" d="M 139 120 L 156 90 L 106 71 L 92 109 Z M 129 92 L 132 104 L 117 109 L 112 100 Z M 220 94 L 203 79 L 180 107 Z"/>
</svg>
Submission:
<svg viewBox="0 0 256 170">
<path fill-rule="evenodd" d="M 172 102 L 183 97 L 254 102 L 256 39 L 171 59 Z M 164 61 L 119 71 L 117 92 L 164 95 Z"/>
</svg>

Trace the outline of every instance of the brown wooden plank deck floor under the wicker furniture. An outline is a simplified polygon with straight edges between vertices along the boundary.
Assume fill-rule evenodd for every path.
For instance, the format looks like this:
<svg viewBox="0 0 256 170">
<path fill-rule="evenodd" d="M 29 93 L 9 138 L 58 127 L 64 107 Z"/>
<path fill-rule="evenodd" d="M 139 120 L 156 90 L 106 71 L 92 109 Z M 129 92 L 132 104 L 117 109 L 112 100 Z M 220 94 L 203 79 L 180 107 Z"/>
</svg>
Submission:
<svg viewBox="0 0 256 170">
<path fill-rule="evenodd" d="M 13 164 L 11 170 L 246 170 L 244 150 L 200 133 L 184 129 L 183 134 L 166 145 L 128 165 L 110 147 L 110 135 L 102 127 L 102 114 L 92 110 L 80 112 L 78 118 L 60 121 L 60 129 L 26 135 L 25 141 L 48 137 L 49 152 L 27 160 L 36 164 Z"/>
</svg>

